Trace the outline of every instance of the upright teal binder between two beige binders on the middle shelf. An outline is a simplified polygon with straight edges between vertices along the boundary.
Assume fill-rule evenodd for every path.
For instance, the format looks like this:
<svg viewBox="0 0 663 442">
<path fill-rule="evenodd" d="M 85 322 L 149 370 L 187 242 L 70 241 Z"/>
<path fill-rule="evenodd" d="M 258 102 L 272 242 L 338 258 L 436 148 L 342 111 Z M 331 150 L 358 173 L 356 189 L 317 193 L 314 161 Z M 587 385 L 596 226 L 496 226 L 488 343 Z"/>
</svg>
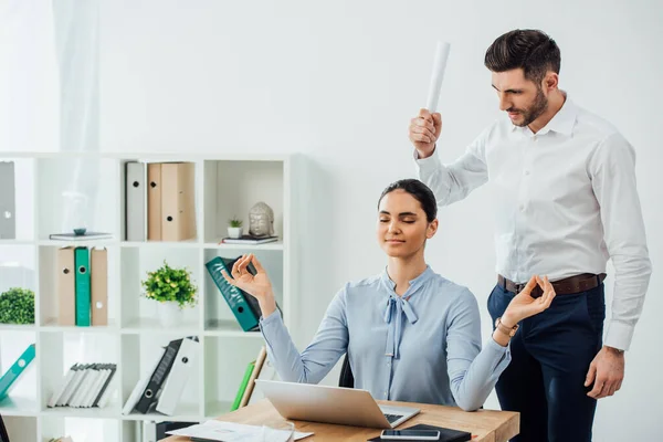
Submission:
<svg viewBox="0 0 663 442">
<path fill-rule="evenodd" d="M 57 250 L 57 324 L 108 325 L 108 253 L 103 249 Z"/>
</svg>

